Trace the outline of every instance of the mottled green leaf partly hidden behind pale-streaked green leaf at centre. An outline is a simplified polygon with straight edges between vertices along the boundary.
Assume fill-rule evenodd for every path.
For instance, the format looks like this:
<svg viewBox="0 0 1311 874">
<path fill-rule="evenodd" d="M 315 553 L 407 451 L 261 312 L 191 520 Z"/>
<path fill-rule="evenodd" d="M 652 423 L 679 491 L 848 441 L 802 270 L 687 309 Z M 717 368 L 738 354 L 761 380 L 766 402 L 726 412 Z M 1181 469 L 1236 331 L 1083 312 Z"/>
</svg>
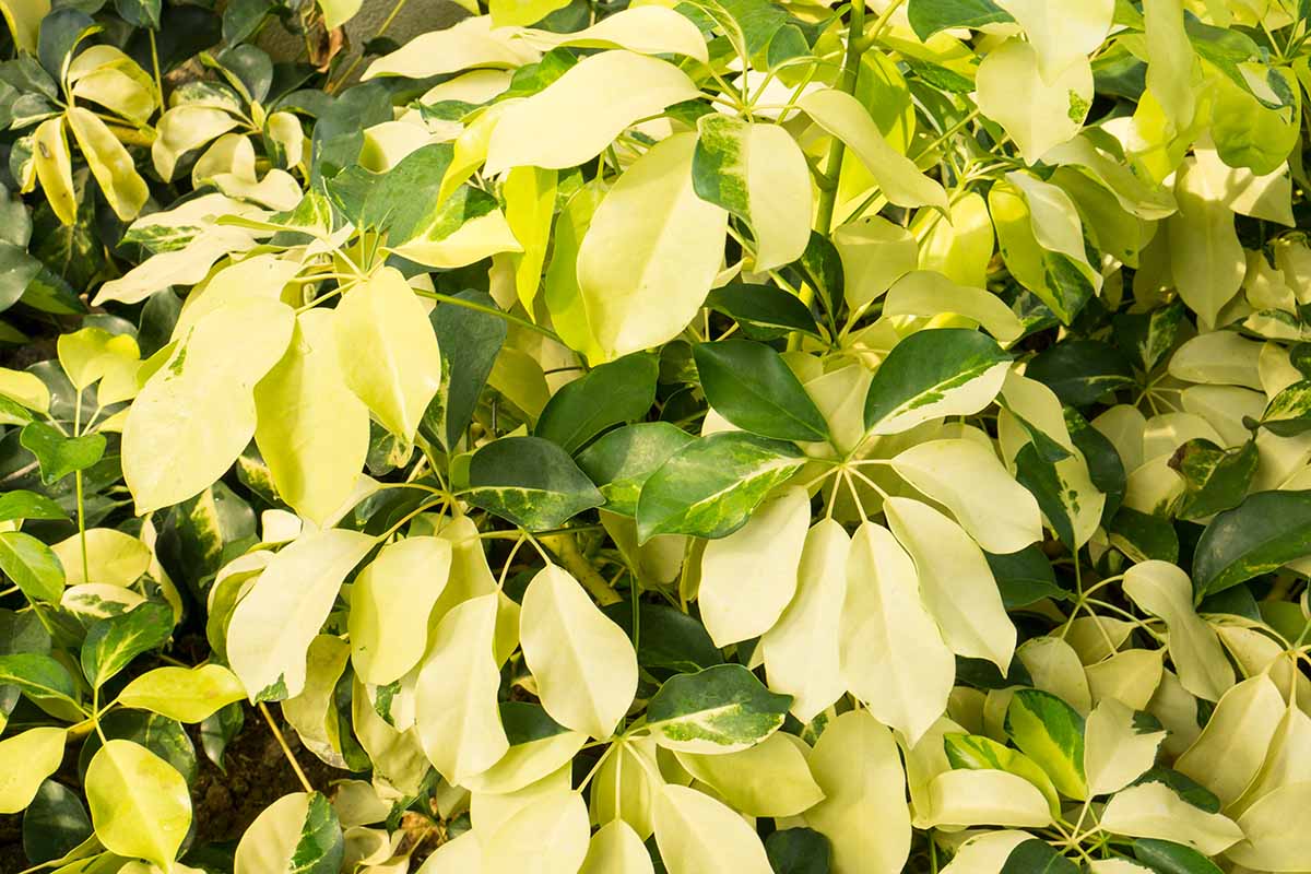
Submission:
<svg viewBox="0 0 1311 874">
<path fill-rule="evenodd" d="M 638 422 L 610 434 L 578 453 L 576 461 L 606 497 L 606 510 L 637 515 L 642 485 L 671 455 L 695 442 L 669 422 Z"/>
</svg>

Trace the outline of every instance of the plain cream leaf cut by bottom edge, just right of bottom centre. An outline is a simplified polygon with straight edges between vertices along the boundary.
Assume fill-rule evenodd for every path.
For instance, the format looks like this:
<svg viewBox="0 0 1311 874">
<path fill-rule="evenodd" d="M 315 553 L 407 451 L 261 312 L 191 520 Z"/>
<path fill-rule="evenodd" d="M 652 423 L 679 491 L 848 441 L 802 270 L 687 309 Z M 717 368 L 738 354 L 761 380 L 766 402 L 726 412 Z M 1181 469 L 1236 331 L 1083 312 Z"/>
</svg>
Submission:
<svg viewBox="0 0 1311 874">
<path fill-rule="evenodd" d="M 772 874 L 755 829 L 732 808 L 687 786 L 656 797 L 656 843 L 669 874 Z"/>
</svg>

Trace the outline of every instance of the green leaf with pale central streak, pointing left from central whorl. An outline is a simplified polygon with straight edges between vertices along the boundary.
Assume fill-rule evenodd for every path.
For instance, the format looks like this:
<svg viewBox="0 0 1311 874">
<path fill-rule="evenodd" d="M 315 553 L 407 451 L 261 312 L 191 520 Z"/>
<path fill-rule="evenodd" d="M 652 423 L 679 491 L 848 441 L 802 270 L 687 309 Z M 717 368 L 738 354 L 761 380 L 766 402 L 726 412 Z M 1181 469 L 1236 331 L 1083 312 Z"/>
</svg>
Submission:
<svg viewBox="0 0 1311 874">
<path fill-rule="evenodd" d="M 726 537 L 804 464 L 805 456 L 791 443 L 742 431 L 722 431 L 688 443 L 642 484 L 637 539 Z"/>
</svg>

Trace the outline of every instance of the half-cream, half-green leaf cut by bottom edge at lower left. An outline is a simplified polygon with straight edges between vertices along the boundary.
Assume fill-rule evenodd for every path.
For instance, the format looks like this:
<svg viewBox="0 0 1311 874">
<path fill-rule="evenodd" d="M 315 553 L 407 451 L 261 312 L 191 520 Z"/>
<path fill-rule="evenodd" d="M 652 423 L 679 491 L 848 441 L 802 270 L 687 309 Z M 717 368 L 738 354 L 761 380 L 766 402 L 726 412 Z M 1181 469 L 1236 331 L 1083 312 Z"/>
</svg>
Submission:
<svg viewBox="0 0 1311 874">
<path fill-rule="evenodd" d="M 337 811 L 320 793 L 291 793 L 256 818 L 233 860 L 235 874 L 334 874 L 345 854 Z"/>
</svg>

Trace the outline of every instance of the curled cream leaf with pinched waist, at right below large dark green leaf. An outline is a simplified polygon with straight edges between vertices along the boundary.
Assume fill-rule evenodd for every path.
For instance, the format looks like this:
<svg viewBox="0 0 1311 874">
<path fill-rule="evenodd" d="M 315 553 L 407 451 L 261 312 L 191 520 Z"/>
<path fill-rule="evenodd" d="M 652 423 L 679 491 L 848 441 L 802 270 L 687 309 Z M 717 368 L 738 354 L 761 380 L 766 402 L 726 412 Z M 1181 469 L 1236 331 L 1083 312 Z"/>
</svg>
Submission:
<svg viewBox="0 0 1311 874">
<path fill-rule="evenodd" d="M 1234 685 L 1234 667 L 1221 639 L 1193 607 L 1193 583 L 1164 561 L 1145 561 L 1125 571 L 1125 595 L 1145 613 L 1165 622 L 1167 645 L 1184 688 L 1200 698 L 1219 701 Z"/>
</svg>

